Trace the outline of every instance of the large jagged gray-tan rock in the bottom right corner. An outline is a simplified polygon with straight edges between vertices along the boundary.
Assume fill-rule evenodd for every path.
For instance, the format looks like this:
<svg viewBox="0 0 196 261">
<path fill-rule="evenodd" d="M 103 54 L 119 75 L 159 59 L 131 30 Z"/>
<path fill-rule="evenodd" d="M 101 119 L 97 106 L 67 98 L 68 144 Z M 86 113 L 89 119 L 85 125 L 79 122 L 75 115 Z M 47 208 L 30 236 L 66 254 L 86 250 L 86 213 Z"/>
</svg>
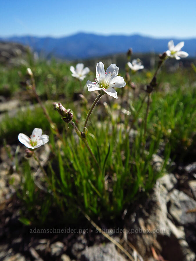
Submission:
<svg viewBox="0 0 196 261">
<path fill-rule="evenodd" d="M 185 231 L 184 224 L 192 224 L 191 228 L 194 230 L 195 215 L 186 214 L 186 211 L 194 208 L 196 202 L 174 189 L 176 183 L 173 174 L 158 179 L 154 192 L 143 205 L 137 206 L 135 213 L 127 221 L 126 228 L 134 229 L 127 238 L 143 257 L 152 255 L 153 246 L 157 253 L 163 253 L 166 260 L 192 261 L 195 258 L 186 241 L 187 231 L 190 229 Z M 139 230 L 141 232 L 138 233 Z M 193 238 L 192 234 L 190 238 Z"/>
</svg>

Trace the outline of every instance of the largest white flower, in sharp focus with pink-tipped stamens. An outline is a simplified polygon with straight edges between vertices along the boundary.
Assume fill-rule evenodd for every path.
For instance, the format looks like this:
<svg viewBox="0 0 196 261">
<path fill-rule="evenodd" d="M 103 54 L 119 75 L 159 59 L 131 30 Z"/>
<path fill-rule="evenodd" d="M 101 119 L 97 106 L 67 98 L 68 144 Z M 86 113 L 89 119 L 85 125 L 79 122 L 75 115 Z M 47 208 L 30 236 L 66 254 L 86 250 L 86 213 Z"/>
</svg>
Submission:
<svg viewBox="0 0 196 261">
<path fill-rule="evenodd" d="M 122 88 L 126 85 L 123 77 L 118 75 L 118 67 L 116 64 L 111 64 L 106 72 L 102 62 L 98 62 L 96 66 L 96 78 L 95 82 L 87 81 L 88 91 L 103 90 L 110 96 L 118 99 L 117 92 L 114 87 Z"/>
</svg>

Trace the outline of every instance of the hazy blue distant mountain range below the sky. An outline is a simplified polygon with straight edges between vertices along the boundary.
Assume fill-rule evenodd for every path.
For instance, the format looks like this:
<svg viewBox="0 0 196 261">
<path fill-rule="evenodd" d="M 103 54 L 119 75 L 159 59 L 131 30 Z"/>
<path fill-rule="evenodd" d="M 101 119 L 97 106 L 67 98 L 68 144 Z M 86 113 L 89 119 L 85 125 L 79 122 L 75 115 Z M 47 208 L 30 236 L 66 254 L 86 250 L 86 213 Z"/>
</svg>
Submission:
<svg viewBox="0 0 196 261">
<path fill-rule="evenodd" d="M 78 33 L 75 35 L 53 38 L 34 36 L 13 36 L 0 38 L 1 41 L 16 42 L 30 46 L 34 51 L 42 52 L 46 57 L 59 57 L 66 59 L 85 59 L 127 52 L 131 47 L 133 52 L 156 52 L 161 53 L 168 50 L 168 41 L 171 38 L 157 39 L 142 35 L 95 35 Z M 172 39 L 176 45 L 184 41 L 183 51 L 189 56 L 196 56 L 196 38 L 193 39 Z"/>
</svg>

